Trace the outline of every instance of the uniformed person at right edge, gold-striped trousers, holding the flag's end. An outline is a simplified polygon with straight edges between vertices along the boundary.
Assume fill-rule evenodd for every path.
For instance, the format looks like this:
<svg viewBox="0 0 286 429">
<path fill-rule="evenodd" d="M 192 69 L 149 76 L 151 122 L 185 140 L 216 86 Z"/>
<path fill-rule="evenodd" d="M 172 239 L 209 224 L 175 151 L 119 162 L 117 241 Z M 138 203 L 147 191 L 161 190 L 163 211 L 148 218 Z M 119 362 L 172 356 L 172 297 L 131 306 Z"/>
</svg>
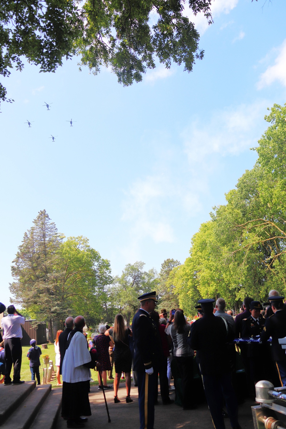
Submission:
<svg viewBox="0 0 286 429">
<path fill-rule="evenodd" d="M 283 310 L 284 296 L 268 296 L 273 315 L 265 320 L 265 326 L 260 334 L 262 342 L 272 337 L 271 357 L 275 363 L 279 380 L 286 386 L 286 354 L 279 344 L 278 338 L 286 337 L 286 311 Z"/>
</svg>

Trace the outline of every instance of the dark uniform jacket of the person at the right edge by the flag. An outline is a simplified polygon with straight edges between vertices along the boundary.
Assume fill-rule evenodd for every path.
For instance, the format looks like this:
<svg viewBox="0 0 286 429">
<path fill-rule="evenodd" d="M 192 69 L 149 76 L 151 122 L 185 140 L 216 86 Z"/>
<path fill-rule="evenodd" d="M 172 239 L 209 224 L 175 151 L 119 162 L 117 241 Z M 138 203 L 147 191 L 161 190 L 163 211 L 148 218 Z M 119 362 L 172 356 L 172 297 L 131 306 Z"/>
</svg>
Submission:
<svg viewBox="0 0 286 429">
<path fill-rule="evenodd" d="M 286 360 L 285 350 L 278 342 L 278 338 L 286 337 L 286 311 L 278 310 L 273 316 L 265 320 L 265 327 L 260 334 L 261 341 L 272 337 L 271 355 L 273 360 Z"/>
</svg>

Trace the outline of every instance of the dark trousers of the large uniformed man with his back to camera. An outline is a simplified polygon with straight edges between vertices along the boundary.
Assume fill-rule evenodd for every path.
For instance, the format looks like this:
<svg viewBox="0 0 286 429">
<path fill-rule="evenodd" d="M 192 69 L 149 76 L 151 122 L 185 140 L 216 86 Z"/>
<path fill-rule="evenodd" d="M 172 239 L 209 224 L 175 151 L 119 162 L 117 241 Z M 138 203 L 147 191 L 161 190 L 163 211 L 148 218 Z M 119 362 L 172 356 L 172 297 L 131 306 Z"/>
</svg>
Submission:
<svg viewBox="0 0 286 429">
<path fill-rule="evenodd" d="M 232 373 L 218 375 L 203 375 L 202 381 L 205 389 L 205 397 L 215 429 L 225 429 L 222 405 L 226 402 L 227 413 L 232 427 L 238 424 L 238 403 L 235 391 L 232 387 Z"/>
</svg>

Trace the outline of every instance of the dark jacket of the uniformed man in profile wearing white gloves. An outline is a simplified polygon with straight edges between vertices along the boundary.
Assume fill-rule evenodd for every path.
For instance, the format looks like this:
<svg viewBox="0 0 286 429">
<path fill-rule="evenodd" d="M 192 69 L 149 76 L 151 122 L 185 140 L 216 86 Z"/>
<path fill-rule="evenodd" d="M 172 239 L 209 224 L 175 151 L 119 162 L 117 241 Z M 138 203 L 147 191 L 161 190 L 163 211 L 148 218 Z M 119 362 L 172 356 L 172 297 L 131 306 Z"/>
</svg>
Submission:
<svg viewBox="0 0 286 429">
<path fill-rule="evenodd" d="M 134 371 L 145 372 L 145 369 L 157 368 L 160 364 L 160 350 L 162 349 L 159 329 L 151 316 L 141 308 L 132 320 L 132 333 Z"/>
</svg>

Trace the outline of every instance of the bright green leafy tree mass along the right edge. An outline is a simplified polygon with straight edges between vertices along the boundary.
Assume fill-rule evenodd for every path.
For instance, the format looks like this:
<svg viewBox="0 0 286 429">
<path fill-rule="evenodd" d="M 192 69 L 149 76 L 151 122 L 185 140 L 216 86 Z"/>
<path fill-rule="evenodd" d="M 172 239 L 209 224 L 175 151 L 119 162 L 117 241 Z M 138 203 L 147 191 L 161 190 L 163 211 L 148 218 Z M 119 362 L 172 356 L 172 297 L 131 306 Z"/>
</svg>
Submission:
<svg viewBox="0 0 286 429">
<path fill-rule="evenodd" d="M 286 105 L 274 104 L 271 125 L 254 150 L 252 170 L 214 207 L 193 236 L 190 257 L 170 274 L 180 306 L 195 314 L 199 298 L 222 296 L 237 310 L 245 296 L 286 294 Z"/>
</svg>

